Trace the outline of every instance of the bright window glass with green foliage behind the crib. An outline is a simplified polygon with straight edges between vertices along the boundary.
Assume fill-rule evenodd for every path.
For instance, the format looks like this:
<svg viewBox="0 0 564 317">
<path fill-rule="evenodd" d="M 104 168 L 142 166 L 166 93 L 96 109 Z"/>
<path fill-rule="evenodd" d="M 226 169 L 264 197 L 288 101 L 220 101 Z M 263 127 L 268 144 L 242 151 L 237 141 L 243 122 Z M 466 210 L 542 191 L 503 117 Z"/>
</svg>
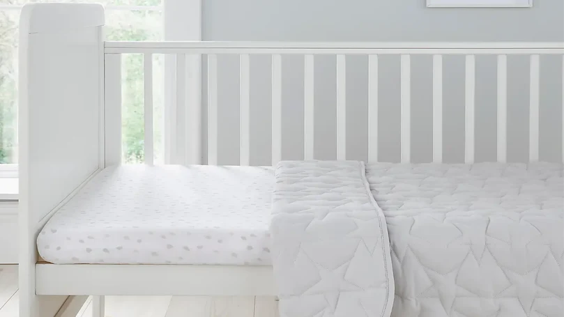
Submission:
<svg viewBox="0 0 564 317">
<path fill-rule="evenodd" d="M 107 40 L 162 40 L 161 0 L 58 0 L 102 3 L 106 7 Z M 17 26 L 26 2 L 47 0 L 0 0 L 0 174 L 17 171 Z M 155 56 L 155 79 L 162 76 L 162 56 Z M 144 160 L 143 56 L 124 55 L 122 60 L 123 162 Z M 162 89 L 155 80 L 155 160 L 162 157 Z"/>
</svg>

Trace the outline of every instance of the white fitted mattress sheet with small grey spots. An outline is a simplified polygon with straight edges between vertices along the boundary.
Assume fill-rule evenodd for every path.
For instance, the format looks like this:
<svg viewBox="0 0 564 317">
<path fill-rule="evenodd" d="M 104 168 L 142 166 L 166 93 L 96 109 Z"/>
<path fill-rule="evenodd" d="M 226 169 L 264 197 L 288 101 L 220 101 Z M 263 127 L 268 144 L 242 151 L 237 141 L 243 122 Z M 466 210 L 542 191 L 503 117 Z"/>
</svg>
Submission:
<svg viewBox="0 0 564 317">
<path fill-rule="evenodd" d="M 49 219 L 38 252 L 56 264 L 269 264 L 273 182 L 270 167 L 108 167 Z"/>
</svg>

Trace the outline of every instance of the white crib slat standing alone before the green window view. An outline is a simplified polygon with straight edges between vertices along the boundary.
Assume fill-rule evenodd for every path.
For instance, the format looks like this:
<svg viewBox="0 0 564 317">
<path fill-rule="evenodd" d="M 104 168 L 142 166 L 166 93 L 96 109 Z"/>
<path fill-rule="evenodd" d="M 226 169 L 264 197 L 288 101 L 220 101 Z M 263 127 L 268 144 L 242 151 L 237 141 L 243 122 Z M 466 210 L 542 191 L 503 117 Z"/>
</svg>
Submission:
<svg viewBox="0 0 564 317">
<path fill-rule="evenodd" d="M 145 164 L 153 165 L 153 54 L 144 54 Z"/>
</svg>

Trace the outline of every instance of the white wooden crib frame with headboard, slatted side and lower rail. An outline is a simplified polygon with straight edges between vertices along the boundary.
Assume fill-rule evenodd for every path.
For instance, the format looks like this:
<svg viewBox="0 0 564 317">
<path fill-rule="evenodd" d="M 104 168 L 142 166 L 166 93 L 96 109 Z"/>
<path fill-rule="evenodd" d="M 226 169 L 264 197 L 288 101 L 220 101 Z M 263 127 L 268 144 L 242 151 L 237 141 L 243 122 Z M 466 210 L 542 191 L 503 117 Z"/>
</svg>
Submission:
<svg viewBox="0 0 564 317">
<path fill-rule="evenodd" d="M 314 148 L 314 56 L 337 56 L 337 159 L 346 157 L 345 54 L 369 60 L 369 161 L 378 144 L 378 56 L 401 55 L 401 161 L 411 157 L 410 56 L 433 56 L 433 160 L 441 162 L 442 56 L 466 59 L 465 162 L 474 159 L 475 55 L 498 56 L 497 157 L 507 157 L 507 56 L 531 61 L 529 158 L 539 159 L 540 54 L 563 54 L 563 43 L 292 43 L 292 42 L 105 42 L 104 9 L 93 4 L 36 3 L 20 22 L 20 317 L 54 316 L 69 295 L 275 295 L 267 266 L 55 265 L 38 258 L 36 238 L 45 222 L 89 179 L 121 161 L 121 54 L 144 54 L 145 157 L 153 164 L 151 54 L 172 54 L 176 93 L 167 126 L 166 162 L 203 164 L 201 157 L 201 55 L 208 61 L 208 162 L 218 162 L 216 54 L 241 56 L 241 165 L 250 163 L 250 57 L 272 56 L 272 162 L 282 155 L 282 58 L 305 56 L 305 159 Z M 560 70 L 559 70 L 560 71 Z M 184 89 L 185 88 L 185 89 Z M 564 89 L 563 89 L 564 90 Z M 564 99 L 564 98 L 563 98 Z M 178 116 L 177 116 L 178 114 Z M 564 139 L 564 138 L 563 138 Z M 564 157 L 564 155 L 563 155 Z"/>
</svg>

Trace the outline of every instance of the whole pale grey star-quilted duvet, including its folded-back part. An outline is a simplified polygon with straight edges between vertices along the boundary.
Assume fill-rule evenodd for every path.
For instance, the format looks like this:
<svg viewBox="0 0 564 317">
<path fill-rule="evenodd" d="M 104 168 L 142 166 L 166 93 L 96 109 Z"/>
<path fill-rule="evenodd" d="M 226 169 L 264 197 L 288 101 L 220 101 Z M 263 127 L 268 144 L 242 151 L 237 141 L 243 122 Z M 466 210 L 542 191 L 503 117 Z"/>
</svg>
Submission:
<svg viewBox="0 0 564 317">
<path fill-rule="evenodd" d="M 330 180 L 335 167 L 326 165 L 327 173 L 321 173 L 314 172 L 317 167 L 312 162 L 294 162 L 285 167 L 284 164 L 288 163 L 279 165 L 277 175 L 281 168 L 287 171 L 291 168 L 298 176 L 277 178 L 273 224 L 278 221 L 279 226 L 273 227 L 273 231 L 278 231 L 273 237 L 273 247 L 294 243 L 294 249 L 299 250 L 307 237 L 296 238 L 298 233 L 323 231 L 329 226 L 312 226 L 316 222 L 309 220 L 307 226 L 299 221 L 296 224 L 300 225 L 289 226 L 294 221 L 290 219 L 313 219 L 303 212 L 308 209 L 304 208 L 304 202 L 315 209 L 320 204 L 328 206 L 327 202 L 338 196 L 335 196 L 335 185 L 328 185 L 335 181 Z M 385 281 L 395 284 L 387 288 L 395 289 L 388 314 L 393 317 L 564 316 L 562 164 L 370 164 L 365 172 L 377 205 L 363 212 L 372 212 L 378 219 L 383 215 L 386 222 L 380 229 L 369 224 L 365 229 L 374 231 L 374 236 L 388 234 L 381 243 L 385 245 L 389 241 L 392 274 L 382 278 L 385 265 L 382 262 L 369 265 L 369 261 L 356 263 L 355 270 L 351 265 L 346 268 L 333 265 L 339 270 L 314 265 L 305 270 L 304 263 L 317 263 L 317 260 L 298 261 L 295 254 L 277 254 L 286 262 L 277 263 L 273 258 L 275 277 L 287 287 L 286 291 L 290 290 L 284 293 L 281 289 L 281 316 L 386 316 L 385 310 L 372 315 L 370 311 L 357 313 L 353 309 L 335 313 L 335 303 L 338 304 L 335 300 L 346 298 L 343 296 L 346 287 L 358 286 L 363 276 L 365 279 L 378 276 L 383 282 L 380 286 Z M 314 177 L 299 176 L 307 173 Z M 300 183 L 304 180 L 309 183 Z M 350 196 L 339 196 L 337 201 L 361 199 L 356 183 L 341 182 L 337 187 L 346 190 L 340 193 Z M 307 195 L 310 199 L 304 199 Z M 346 212 L 352 212 L 363 204 L 337 205 L 341 211 L 350 207 Z M 292 206 L 300 207 L 292 210 Z M 324 215 L 330 216 L 330 210 Z M 328 216 L 325 219 L 330 219 Z M 355 232 L 349 231 L 350 228 L 356 227 L 349 227 L 346 222 L 335 224 L 332 239 L 340 235 L 346 240 L 350 232 Z M 284 242 L 275 237 L 289 240 Z M 335 240 L 333 249 L 339 248 Z M 319 258 L 324 254 L 326 261 L 340 258 L 339 263 L 352 263 L 356 254 L 343 256 L 332 252 L 328 245 L 325 252 L 321 247 L 315 252 Z M 284 256 L 296 261 L 284 260 Z M 281 264 L 294 271 L 286 274 L 277 270 Z M 323 295 L 324 304 L 323 300 L 318 302 L 323 309 L 305 314 L 299 309 L 308 304 L 299 302 L 299 298 L 316 284 L 312 281 L 323 280 L 321 277 L 332 277 L 330 281 L 335 283 L 317 288 Z M 284 282 L 280 283 L 281 280 Z M 380 307 L 384 303 L 383 293 L 372 295 Z M 311 308 L 311 301 L 309 305 Z"/>
</svg>

